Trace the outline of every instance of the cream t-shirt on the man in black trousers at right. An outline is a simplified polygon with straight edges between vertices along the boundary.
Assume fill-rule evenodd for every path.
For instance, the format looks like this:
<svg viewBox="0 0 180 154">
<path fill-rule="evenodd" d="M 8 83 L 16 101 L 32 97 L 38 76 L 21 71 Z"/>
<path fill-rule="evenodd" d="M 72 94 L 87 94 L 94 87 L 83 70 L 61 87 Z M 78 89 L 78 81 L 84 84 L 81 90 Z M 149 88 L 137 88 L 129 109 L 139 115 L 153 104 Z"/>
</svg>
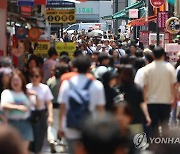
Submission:
<svg viewBox="0 0 180 154">
<path fill-rule="evenodd" d="M 170 104 L 171 86 L 175 82 L 176 72 L 170 63 L 156 60 L 145 66 L 144 84 L 148 86 L 148 103 Z"/>
</svg>

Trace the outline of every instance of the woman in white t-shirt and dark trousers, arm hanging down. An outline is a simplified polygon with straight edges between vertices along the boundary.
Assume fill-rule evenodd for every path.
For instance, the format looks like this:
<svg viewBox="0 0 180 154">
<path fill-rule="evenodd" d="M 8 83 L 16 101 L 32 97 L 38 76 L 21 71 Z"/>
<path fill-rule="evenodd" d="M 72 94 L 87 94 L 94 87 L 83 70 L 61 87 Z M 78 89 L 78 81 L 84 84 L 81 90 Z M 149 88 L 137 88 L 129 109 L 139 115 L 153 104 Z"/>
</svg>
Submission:
<svg viewBox="0 0 180 154">
<path fill-rule="evenodd" d="M 31 83 L 27 84 L 27 89 L 37 92 L 39 100 L 39 119 L 33 123 L 34 141 L 30 144 L 30 150 L 40 153 L 47 132 L 47 126 L 53 125 L 53 95 L 49 87 L 41 83 L 42 76 L 40 69 L 34 68 L 31 74 Z M 47 125 L 48 124 L 48 125 Z M 51 143 L 50 143 L 51 144 Z M 53 144 L 53 143 L 52 143 Z"/>
</svg>

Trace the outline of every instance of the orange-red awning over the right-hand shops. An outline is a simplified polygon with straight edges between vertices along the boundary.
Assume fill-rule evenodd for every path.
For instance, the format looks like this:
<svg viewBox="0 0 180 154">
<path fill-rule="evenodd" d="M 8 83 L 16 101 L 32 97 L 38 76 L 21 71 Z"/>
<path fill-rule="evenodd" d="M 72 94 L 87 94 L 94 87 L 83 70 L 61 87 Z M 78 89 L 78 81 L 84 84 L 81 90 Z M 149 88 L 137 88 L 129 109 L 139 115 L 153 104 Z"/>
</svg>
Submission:
<svg viewBox="0 0 180 154">
<path fill-rule="evenodd" d="M 155 20 L 157 20 L 157 16 L 150 16 L 150 17 L 146 17 L 146 18 L 140 18 L 140 19 L 132 20 L 128 23 L 128 25 L 130 25 L 130 26 L 145 26 L 149 22 L 152 22 Z"/>
</svg>

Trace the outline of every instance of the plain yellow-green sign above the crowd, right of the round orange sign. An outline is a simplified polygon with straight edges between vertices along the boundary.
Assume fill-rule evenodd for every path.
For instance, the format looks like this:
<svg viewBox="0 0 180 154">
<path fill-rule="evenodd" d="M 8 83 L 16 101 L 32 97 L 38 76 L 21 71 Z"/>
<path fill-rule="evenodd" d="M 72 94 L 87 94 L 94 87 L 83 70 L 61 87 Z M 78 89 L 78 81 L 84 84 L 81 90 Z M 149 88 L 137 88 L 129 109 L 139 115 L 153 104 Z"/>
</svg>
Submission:
<svg viewBox="0 0 180 154">
<path fill-rule="evenodd" d="M 56 51 L 58 52 L 58 55 L 62 52 L 62 51 L 66 51 L 69 53 L 69 57 L 72 59 L 74 56 L 74 52 L 76 51 L 76 44 L 73 42 L 56 42 L 55 45 Z"/>
</svg>

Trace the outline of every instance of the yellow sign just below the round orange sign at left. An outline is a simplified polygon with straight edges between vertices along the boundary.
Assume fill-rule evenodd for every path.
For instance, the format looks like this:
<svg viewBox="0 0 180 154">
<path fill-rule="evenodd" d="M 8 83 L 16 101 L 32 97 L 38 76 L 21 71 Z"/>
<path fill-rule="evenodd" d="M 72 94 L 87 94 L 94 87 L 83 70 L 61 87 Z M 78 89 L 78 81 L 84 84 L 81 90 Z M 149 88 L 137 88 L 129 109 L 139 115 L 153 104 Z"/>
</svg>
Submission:
<svg viewBox="0 0 180 154">
<path fill-rule="evenodd" d="M 50 49 L 49 41 L 38 41 L 38 45 L 34 50 L 34 54 L 42 58 L 48 57 L 48 50 Z"/>
</svg>

